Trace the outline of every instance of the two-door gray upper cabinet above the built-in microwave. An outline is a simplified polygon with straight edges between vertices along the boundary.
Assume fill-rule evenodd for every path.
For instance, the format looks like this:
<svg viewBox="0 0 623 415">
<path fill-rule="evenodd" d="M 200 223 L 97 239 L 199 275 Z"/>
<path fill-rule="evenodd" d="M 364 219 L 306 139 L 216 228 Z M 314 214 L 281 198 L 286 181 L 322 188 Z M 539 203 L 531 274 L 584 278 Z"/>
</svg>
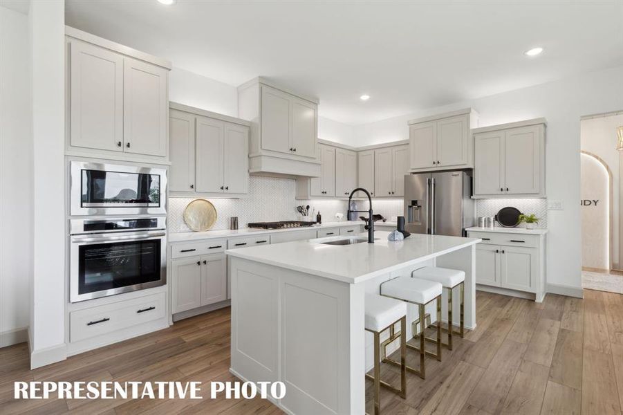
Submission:
<svg viewBox="0 0 623 415">
<path fill-rule="evenodd" d="M 66 154 L 167 161 L 170 63 L 66 30 Z"/>
</svg>

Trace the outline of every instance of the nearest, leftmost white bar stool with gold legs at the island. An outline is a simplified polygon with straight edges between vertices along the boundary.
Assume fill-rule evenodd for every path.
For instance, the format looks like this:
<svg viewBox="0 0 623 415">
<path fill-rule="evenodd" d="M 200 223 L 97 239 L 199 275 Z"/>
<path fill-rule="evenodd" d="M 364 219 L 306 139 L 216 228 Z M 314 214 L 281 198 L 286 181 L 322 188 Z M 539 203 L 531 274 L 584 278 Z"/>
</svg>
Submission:
<svg viewBox="0 0 623 415">
<path fill-rule="evenodd" d="M 380 333 L 393 329 L 393 325 L 400 322 L 401 333 L 406 333 L 407 329 L 407 304 L 388 297 L 377 294 L 366 294 L 366 331 L 374 335 L 374 376 L 366 374 L 366 378 L 374 381 L 374 414 L 380 414 L 380 387 L 387 387 L 396 392 L 401 398 L 407 396 L 407 340 L 405 336 L 400 336 L 400 389 L 389 385 L 381 380 L 380 376 Z"/>
</svg>

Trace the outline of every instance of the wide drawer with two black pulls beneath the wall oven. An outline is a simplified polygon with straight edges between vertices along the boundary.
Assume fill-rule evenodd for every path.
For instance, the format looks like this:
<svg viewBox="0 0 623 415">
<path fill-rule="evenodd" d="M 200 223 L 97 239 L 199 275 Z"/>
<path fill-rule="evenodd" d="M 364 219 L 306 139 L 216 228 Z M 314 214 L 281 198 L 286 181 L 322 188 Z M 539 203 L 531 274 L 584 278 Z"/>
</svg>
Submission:
<svg viewBox="0 0 623 415">
<path fill-rule="evenodd" d="M 147 295 L 69 313 L 69 337 L 84 340 L 165 317 L 165 293 Z"/>
</svg>

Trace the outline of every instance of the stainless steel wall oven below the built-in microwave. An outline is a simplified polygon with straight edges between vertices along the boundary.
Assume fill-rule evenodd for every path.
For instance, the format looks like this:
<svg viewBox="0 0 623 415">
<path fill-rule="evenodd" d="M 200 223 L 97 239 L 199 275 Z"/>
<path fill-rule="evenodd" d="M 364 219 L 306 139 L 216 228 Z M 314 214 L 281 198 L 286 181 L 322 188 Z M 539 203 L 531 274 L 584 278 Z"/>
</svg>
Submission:
<svg viewBox="0 0 623 415">
<path fill-rule="evenodd" d="M 167 282 L 165 217 L 72 219 L 71 302 L 161 286 Z"/>
</svg>

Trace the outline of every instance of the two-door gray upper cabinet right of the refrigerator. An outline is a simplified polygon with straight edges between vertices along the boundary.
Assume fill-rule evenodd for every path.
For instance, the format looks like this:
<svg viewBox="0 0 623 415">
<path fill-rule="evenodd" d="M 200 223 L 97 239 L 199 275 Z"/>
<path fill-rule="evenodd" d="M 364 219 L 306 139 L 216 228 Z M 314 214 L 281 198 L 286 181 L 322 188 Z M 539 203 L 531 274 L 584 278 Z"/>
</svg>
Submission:
<svg viewBox="0 0 623 415">
<path fill-rule="evenodd" d="M 474 129 L 474 198 L 545 197 L 546 120 Z"/>
</svg>

